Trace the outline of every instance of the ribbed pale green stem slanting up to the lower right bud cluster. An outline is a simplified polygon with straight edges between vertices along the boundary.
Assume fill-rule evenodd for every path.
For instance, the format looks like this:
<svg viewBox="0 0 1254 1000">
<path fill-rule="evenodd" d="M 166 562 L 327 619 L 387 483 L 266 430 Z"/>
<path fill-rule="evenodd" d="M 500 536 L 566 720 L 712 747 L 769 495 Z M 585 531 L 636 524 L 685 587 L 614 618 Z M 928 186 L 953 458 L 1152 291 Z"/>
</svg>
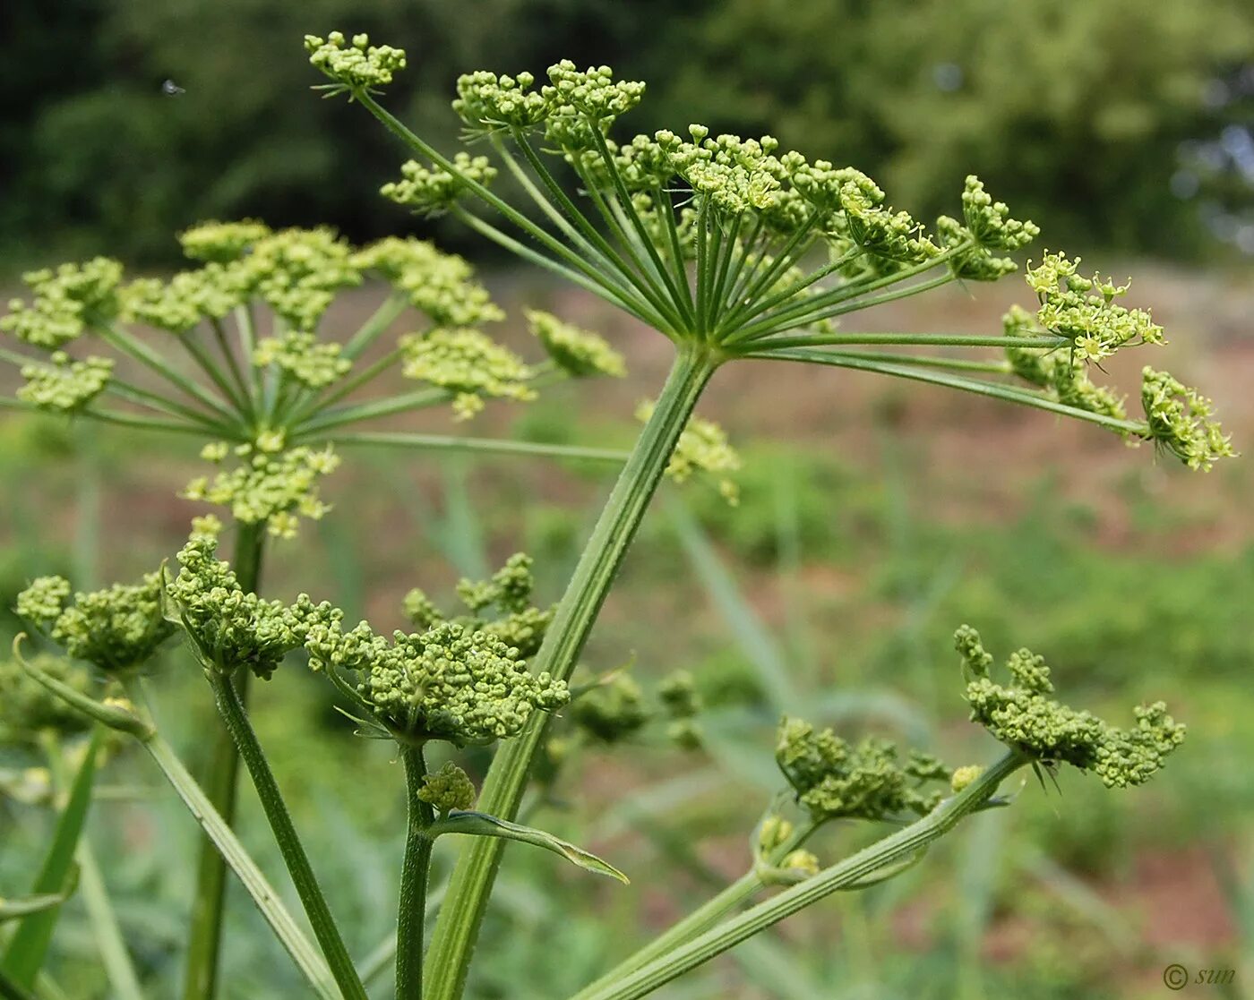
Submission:
<svg viewBox="0 0 1254 1000">
<path fill-rule="evenodd" d="M 825 896 L 854 886 L 868 876 L 923 851 L 934 840 L 953 830 L 964 816 L 983 806 L 998 786 L 1027 762 L 1026 756 L 1014 751 L 1008 752 L 972 784 L 942 802 L 918 822 L 720 924 L 688 944 L 637 969 L 618 982 L 597 990 L 581 990 L 572 1000 L 637 1000 L 647 996 L 799 910 L 813 906 Z"/>
</svg>

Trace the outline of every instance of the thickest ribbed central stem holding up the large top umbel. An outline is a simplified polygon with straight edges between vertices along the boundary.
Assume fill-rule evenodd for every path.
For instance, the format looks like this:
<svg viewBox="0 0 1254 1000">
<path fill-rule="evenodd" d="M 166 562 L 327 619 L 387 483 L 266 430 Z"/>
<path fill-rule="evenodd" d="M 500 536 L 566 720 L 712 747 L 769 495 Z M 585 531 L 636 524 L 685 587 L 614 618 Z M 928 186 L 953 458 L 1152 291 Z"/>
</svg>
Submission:
<svg viewBox="0 0 1254 1000">
<path fill-rule="evenodd" d="M 535 657 L 537 670 L 566 679 L 574 669 L 675 444 L 716 365 L 707 352 L 691 346 L 676 357 L 653 415 L 619 474 L 562 596 Z M 483 812 L 503 820 L 517 816 L 532 759 L 544 736 L 544 718 L 535 713 L 524 733 L 497 752 L 479 797 Z M 431 940 L 428 1000 L 455 1000 L 461 995 L 503 847 L 503 841 L 474 837 L 461 848 L 448 890 L 448 898 L 455 904 L 441 910 Z"/>
</svg>

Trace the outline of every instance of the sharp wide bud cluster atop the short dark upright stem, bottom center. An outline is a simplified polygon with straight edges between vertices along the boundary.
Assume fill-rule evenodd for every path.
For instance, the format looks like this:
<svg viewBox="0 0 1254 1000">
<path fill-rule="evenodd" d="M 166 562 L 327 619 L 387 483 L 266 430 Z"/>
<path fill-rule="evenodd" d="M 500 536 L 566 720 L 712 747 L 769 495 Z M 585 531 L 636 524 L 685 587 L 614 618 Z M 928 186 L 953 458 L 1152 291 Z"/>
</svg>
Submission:
<svg viewBox="0 0 1254 1000">
<path fill-rule="evenodd" d="M 487 632 L 445 622 L 389 642 L 366 622 L 344 632 L 340 618 L 311 623 L 310 667 L 356 673 L 359 704 L 399 739 L 490 743 L 522 732 L 532 712 L 569 701 L 564 682 L 530 674 L 517 648 Z"/>
</svg>

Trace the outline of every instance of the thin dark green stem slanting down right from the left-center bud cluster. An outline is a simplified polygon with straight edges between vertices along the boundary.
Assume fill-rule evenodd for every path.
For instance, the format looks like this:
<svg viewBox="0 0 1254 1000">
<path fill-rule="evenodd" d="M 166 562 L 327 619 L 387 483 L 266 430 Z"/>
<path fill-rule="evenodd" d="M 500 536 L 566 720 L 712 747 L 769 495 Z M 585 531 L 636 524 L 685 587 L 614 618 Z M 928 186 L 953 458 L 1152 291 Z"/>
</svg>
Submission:
<svg viewBox="0 0 1254 1000">
<path fill-rule="evenodd" d="M 365 987 L 352 966 L 349 950 L 344 946 L 340 929 L 336 927 L 331 909 L 322 896 L 322 888 L 319 886 L 308 856 L 301 846 L 296 827 L 292 825 L 292 817 L 287 812 L 283 796 L 278 791 L 278 783 L 270 769 L 270 762 L 253 732 L 248 713 L 240 701 L 240 694 L 226 674 L 214 670 L 207 673 L 209 684 L 213 687 L 218 712 L 222 713 L 222 719 L 226 722 L 227 732 L 231 734 L 240 758 L 248 768 L 248 776 L 257 789 L 257 797 L 261 799 L 261 807 L 270 822 L 270 828 L 275 833 L 275 841 L 283 856 L 287 873 L 292 877 L 296 895 L 300 896 L 305 915 L 314 929 L 314 936 L 326 956 L 327 965 L 331 966 L 331 975 L 335 976 L 335 981 L 344 991 L 346 1000 L 366 1000 Z"/>
</svg>

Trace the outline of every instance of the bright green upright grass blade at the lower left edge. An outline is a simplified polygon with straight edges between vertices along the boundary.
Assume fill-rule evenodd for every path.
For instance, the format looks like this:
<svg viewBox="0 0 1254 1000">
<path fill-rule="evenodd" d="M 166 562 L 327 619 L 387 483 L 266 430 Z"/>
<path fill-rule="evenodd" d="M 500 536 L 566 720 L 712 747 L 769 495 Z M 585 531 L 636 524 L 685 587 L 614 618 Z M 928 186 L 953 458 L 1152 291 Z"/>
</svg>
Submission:
<svg viewBox="0 0 1254 1000">
<path fill-rule="evenodd" d="M 65 808 L 56 821 L 51 843 L 31 888 L 34 896 L 61 895 L 74 877 L 74 852 L 83 833 L 83 825 L 87 822 L 88 807 L 92 805 L 95 759 L 103 741 L 104 729 L 98 726 L 92 732 L 92 739 L 83 754 L 83 763 L 79 764 L 78 773 L 74 776 L 74 784 L 70 787 Z M 58 916 L 60 916 L 60 906 L 50 906 L 36 914 L 30 914 L 18 925 L 18 930 L 9 941 L 4 961 L 0 962 L 0 971 L 5 972 L 18 986 L 29 990 L 35 985 L 35 976 L 48 954 Z"/>
</svg>

